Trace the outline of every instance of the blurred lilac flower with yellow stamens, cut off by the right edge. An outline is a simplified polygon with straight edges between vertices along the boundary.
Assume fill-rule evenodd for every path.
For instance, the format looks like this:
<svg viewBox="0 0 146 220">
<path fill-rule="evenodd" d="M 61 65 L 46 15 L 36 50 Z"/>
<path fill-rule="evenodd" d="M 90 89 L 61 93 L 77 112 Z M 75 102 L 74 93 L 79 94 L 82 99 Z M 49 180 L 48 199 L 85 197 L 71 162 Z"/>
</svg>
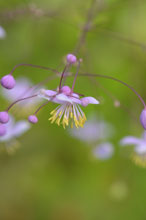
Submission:
<svg viewBox="0 0 146 220">
<path fill-rule="evenodd" d="M 127 136 L 120 141 L 122 146 L 134 145 L 133 159 L 136 164 L 146 167 L 146 131 L 141 138 Z"/>
</svg>

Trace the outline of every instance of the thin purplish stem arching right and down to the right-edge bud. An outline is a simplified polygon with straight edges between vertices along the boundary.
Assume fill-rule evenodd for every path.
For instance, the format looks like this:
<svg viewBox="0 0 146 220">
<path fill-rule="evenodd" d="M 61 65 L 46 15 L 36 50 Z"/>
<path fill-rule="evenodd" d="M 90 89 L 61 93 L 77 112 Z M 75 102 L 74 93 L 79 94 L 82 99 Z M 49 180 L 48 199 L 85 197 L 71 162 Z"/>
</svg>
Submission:
<svg viewBox="0 0 146 220">
<path fill-rule="evenodd" d="M 131 89 L 135 93 L 135 95 L 139 98 L 139 100 L 143 104 L 144 108 L 146 108 L 146 104 L 145 104 L 143 98 L 139 95 L 139 93 L 133 87 L 131 87 L 130 85 L 128 85 L 127 83 L 125 83 L 125 82 L 123 82 L 119 79 L 116 79 L 112 76 L 106 76 L 106 75 L 100 75 L 100 74 L 90 74 L 90 73 L 82 73 L 82 74 L 78 74 L 78 75 L 79 76 L 100 77 L 100 78 L 111 79 L 111 80 L 114 80 L 116 82 L 119 82 L 119 83 L 125 85 L 126 87 L 128 87 L 129 89 Z"/>
</svg>

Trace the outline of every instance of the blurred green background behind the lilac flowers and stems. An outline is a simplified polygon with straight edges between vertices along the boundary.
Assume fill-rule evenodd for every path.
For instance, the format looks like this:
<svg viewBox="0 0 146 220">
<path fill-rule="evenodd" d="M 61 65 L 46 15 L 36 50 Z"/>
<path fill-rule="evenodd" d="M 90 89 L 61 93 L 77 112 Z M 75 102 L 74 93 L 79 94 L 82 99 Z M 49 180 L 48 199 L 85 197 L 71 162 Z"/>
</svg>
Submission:
<svg viewBox="0 0 146 220">
<path fill-rule="evenodd" d="M 0 77 L 19 63 L 62 71 L 66 54 L 80 41 L 91 3 L 1 0 Z M 145 99 L 145 20 L 144 0 L 97 0 L 90 28 L 77 53 L 83 58 L 81 72 L 117 77 Z M 75 67 L 72 71 L 75 73 Z M 19 67 L 14 76 L 26 77 L 35 84 L 53 74 Z M 67 82 L 71 85 L 72 78 Z M 56 89 L 58 84 L 56 77 L 45 87 Z M 84 109 L 87 119 L 111 127 L 95 126 L 98 137 L 92 141 L 86 137 L 92 134 L 91 123 L 80 138 L 79 131 L 75 135 L 71 129 L 48 121 L 56 107 L 50 104 L 28 132 L 12 143 L 0 143 L 0 220 L 146 219 L 146 170 L 131 159 L 132 146 L 123 148 L 119 144 L 124 136 L 141 137 L 141 103 L 128 88 L 106 79 L 96 78 L 95 83 L 95 79 L 78 77 L 76 91 L 101 102 Z M 9 102 L 1 90 L 1 111 Z M 11 111 L 15 120 L 27 119 L 28 109 L 18 107 Z M 29 111 L 33 112 L 33 107 Z M 103 130 L 99 135 L 100 126 Z M 107 156 L 103 156 L 106 150 L 95 152 L 105 142 L 111 144 L 106 148 Z M 13 145 L 19 148 L 8 150 Z"/>
</svg>

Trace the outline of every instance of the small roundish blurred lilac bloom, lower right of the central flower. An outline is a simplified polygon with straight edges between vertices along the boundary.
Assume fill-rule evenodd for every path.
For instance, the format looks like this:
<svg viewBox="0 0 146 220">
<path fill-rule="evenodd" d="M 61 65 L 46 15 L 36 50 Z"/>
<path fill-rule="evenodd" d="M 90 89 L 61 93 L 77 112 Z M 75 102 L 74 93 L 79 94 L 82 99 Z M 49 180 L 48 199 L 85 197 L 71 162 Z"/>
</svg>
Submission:
<svg viewBox="0 0 146 220">
<path fill-rule="evenodd" d="M 114 146 L 109 143 L 101 143 L 93 149 L 93 155 L 99 160 L 107 160 L 113 156 Z"/>
</svg>

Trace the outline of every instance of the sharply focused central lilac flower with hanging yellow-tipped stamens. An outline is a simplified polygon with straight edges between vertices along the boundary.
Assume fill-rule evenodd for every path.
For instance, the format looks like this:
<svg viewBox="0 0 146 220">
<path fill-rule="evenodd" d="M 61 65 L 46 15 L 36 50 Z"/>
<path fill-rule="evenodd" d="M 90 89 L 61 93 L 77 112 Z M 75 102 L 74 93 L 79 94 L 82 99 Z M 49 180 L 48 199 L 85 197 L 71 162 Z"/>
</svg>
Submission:
<svg viewBox="0 0 146 220">
<path fill-rule="evenodd" d="M 71 91 L 71 89 L 69 87 L 67 89 L 67 86 L 65 87 L 66 89 L 62 87 L 60 93 L 58 91 L 45 89 L 41 89 L 39 92 L 39 97 L 60 104 L 50 113 L 51 117 L 49 120 L 51 123 L 56 122 L 57 125 L 62 124 L 64 128 L 69 125 L 70 121 L 71 127 L 73 127 L 73 122 L 77 128 L 83 127 L 86 121 L 86 116 L 79 105 L 84 106 L 85 99 L 88 104 L 99 104 L 99 101 L 93 97 L 80 98 L 77 93 L 66 93 L 66 91 Z"/>
</svg>

